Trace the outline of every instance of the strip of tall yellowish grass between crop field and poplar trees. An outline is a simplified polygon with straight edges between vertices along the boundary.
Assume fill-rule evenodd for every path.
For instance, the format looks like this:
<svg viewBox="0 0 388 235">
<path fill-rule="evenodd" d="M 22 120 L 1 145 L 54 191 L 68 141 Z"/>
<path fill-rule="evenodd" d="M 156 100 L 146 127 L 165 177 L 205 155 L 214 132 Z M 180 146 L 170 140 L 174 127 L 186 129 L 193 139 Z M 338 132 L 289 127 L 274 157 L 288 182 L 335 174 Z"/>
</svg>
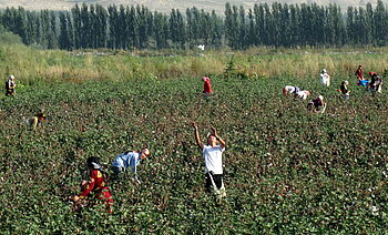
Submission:
<svg viewBox="0 0 388 235">
<path fill-rule="evenodd" d="M 9 41 L 9 40 L 8 40 Z M 387 69 L 388 48 L 379 49 L 267 49 L 246 51 L 58 51 L 1 43 L 0 75 L 22 83 L 48 81 L 122 81 L 141 78 L 221 75 L 231 61 L 247 78 L 316 78 L 323 68 L 331 76 L 351 78 L 358 64 L 366 71 Z M 157 57 L 155 57 L 157 55 Z"/>
</svg>

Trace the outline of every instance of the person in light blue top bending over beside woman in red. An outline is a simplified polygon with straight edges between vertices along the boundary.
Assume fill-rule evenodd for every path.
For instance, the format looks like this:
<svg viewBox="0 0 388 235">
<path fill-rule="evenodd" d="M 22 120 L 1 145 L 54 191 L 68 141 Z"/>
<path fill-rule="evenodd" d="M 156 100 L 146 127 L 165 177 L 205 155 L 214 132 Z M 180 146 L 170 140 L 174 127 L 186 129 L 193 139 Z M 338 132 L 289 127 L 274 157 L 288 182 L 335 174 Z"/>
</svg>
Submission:
<svg viewBox="0 0 388 235">
<path fill-rule="evenodd" d="M 151 153 L 149 149 L 143 149 L 141 152 L 127 151 L 120 154 L 114 159 L 112 163 L 112 168 L 115 177 L 118 178 L 121 173 L 125 174 L 130 168 L 134 173 L 136 182 L 140 183 L 136 171 L 137 165 L 142 160 L 145 160 L 150 155 Z"/>
</svg>

